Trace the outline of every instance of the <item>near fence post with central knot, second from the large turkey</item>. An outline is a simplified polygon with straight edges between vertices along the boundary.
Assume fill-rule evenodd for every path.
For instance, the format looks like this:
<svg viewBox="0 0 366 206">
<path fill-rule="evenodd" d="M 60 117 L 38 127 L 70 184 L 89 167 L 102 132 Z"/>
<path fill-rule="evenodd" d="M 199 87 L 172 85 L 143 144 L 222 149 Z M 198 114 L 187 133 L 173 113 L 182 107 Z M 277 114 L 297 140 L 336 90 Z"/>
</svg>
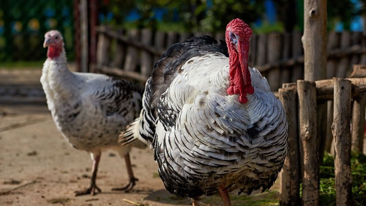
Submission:
<svg viewBox="0 0 366 206">
<path fill-rule="evenodd" d="M 300 138 L 303 147 L 302 206 L 319 205 L 319 152 L 315 82 L 298 80 Z"/>
</svg>

